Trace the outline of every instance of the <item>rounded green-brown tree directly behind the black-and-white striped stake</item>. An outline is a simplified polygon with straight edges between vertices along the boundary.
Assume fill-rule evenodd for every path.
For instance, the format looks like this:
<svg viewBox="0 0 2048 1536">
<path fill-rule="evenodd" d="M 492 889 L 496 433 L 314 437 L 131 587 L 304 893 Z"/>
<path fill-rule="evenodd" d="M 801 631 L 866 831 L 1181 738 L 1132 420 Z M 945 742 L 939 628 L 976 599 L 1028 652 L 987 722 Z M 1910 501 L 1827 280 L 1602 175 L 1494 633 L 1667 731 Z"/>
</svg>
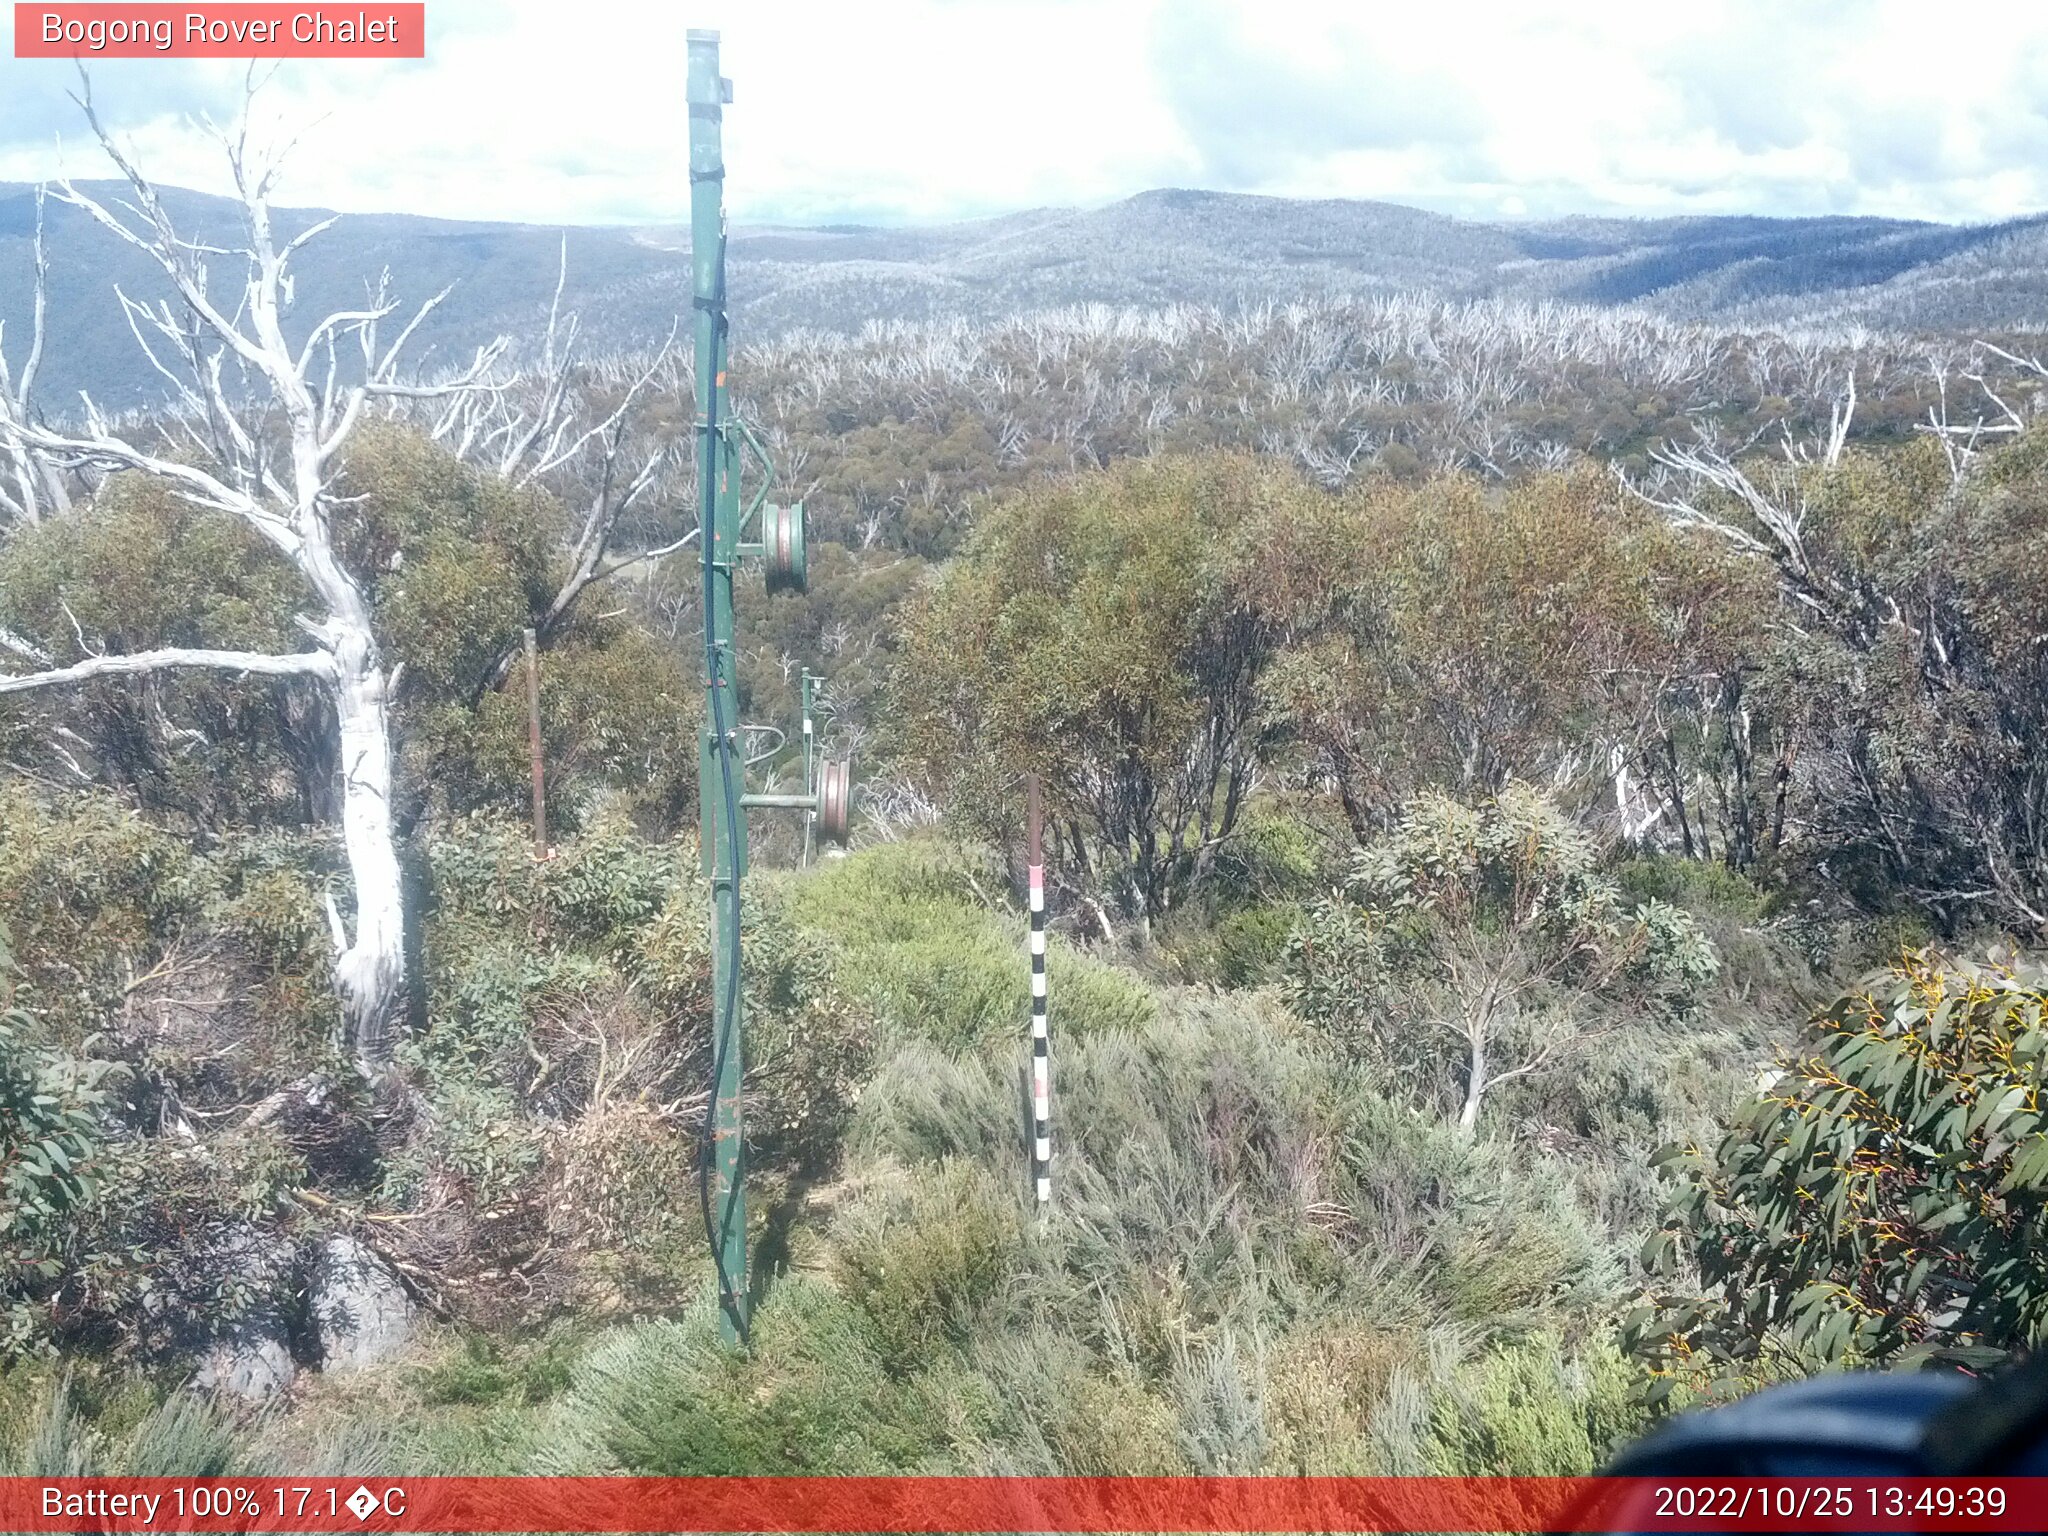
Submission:
<svg viewBox="0 0 2048 1536">
<path fill-rule="evenodd" d="M 1243 457 L 1081 475 L 987 514 L 911 606 L 895 698 L 915 770 L 989 834 L 1044 778 L 1063 872 L 1149 926 L 1208 872 L 1274 737 L 1262 682 L 1327 498 Z"/>
</svg>

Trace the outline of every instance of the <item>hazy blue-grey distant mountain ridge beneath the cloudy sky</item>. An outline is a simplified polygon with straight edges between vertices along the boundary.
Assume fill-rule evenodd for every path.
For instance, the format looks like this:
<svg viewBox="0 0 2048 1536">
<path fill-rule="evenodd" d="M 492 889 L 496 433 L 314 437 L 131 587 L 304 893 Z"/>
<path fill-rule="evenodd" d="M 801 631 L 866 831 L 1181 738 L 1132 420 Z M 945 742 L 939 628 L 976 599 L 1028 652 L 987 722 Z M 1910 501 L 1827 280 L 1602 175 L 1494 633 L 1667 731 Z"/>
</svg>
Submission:
<svg viewBox="0 0 2048 1536">
<path fill-rule="evenodd" d="M 86 182 L 100 197 L 123 188 Z M 238 229 L 225 199 L 164 188 L 180 229 Z M 324 217 L 281 209 L 291 233 Z M 0 322 L 27 346 L 33 188 L 0 184 Z M 76 209 L 47 207 L 51 344 L 39 389 L 63 412 L 80 389 L 113 408 L 158 393 L 113 297 L 158 291 L 147 262 Z M 344 215 L 299 256 L 297 313 L 362 297 L 383 268 L 420 301 L 453 285 L 422 342 L 461 356 L 498 332 L 532 336 L 567 242 L 567 305 L 588 344 L 639 350 L 688 313 L 688 231 Z M 731 236 L 743 336 L 858 330 L 877 319 L 997 319 L 1077 303 L 1243 305 L 1309 295 L 1430 291 L 1632 305 L 1735 326 L 1972 332 L 2048 326 L 2048 215 L 1997 225 L 1905 219 L 1677 217 L 1487 223 L 1366 201 L 1155 190 L 1102 209 L 1034 209 L 930 227 L 739 227 Z"/>
</svg>

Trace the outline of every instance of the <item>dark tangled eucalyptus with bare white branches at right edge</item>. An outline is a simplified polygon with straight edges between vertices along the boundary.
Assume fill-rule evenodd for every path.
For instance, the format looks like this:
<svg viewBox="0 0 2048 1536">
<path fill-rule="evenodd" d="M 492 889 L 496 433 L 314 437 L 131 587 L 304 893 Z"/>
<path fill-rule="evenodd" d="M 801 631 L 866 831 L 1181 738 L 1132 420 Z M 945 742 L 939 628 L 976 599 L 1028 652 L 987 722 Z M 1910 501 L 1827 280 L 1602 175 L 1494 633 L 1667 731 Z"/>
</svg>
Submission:
<svg viewBox="0 0 2048 1536">
<path fill-rule="evenodd" d="M 1855 399 L 1853 383 L 1837 393 L 1812 446 L 1743 453 L 1702 436 L 1624 483 L 1776 586 L 1774 641 L 1733 741 L 1749 782 L 1751 721 L 1778 741 L 1769 842 L 1790 821 L 1786 852 L 1858 907 L 1903 897 L 1944 932 L 2040 934 L 2048 432 L 2011 410 L 2013 432 L 1958 434 L 1937 412 L 1915 442 L 1855 449 Z"/>
</svg>

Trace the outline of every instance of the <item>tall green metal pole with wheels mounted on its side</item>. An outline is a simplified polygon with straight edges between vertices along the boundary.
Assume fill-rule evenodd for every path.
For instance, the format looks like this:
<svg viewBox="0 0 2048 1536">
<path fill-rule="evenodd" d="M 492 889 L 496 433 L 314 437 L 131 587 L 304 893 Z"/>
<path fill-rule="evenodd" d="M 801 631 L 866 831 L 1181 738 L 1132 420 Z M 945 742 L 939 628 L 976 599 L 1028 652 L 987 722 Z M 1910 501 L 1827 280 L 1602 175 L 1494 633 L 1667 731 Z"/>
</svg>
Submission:
<svg viewBox="0 0 2048 1536">
<path fill-rule="evenodd" d="M 698 803 L 705 874 L 711 879 L 713 1178 L 711 1241 L 719 1257 L 719 1331 L 748 1333 L 748 1208 L 741 1190 L 739 1081 L 745 1057 L 739 1032 L 739 881 L 745 874 L 739 668 L 733 653 L 733 567 L 739 561 L 737 434 L 727 430 L 725 391 L 725 147 L 719 35 L 690 33 L 690 270 L 696 297 L 696 473 L 698 545 L 705 559 L 705 735 L 698 745 Z M 709 524 L 709 526 L 705 526 Z"/>
</svg>

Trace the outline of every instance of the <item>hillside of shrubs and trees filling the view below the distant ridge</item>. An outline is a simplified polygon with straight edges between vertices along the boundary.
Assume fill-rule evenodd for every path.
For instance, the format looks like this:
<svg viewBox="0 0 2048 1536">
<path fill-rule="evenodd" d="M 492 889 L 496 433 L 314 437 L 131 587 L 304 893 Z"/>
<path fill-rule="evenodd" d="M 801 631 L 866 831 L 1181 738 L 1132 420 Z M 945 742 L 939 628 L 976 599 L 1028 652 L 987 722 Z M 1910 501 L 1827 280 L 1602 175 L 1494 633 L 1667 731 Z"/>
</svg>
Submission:
<svg viewBox="0 0 2048 1536">
<path fill-rule="evenodd" d="M 1790 303 L 1751 236 L 1657 287 Z M 186 410 L 70 424 L 10 326 L 0 1470 L 1579 1473 L 2036 1346 L 2048 375 L 1589 297 L 739 348 L 813 537 L 741 717 L 823 672 L 862 784 L 754 840 L 743 1352 L 668 309 L 248 391 L 141 322 Z"/>
</svg>

